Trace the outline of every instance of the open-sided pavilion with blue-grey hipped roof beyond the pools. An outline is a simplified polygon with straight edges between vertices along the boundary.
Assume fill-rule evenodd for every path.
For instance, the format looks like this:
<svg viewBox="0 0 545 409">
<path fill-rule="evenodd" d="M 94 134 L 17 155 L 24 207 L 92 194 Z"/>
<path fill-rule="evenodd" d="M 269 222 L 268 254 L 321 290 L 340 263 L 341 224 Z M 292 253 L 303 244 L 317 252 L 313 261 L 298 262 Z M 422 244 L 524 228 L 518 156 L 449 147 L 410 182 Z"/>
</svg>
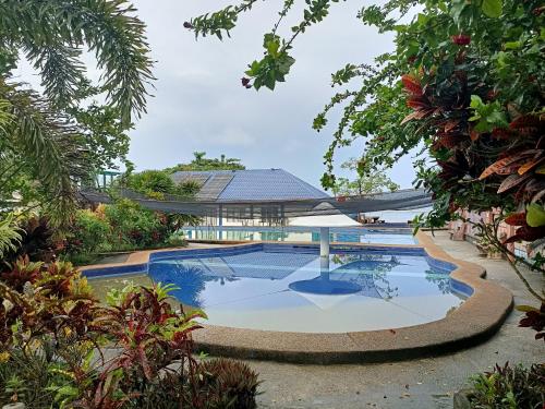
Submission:
<svg viewBox="0 0 545 409">
<path fill-rule="evenodd" d="M 197 200 L 211 202 L 290 201 L 327 199 L 329 195 L 283 169 L 178 171 L 172 173 L 177 183 L 195 181 L 201 185 Z M 254 213 L 255 212 L 255 213 Z M 242 214 L 244 213 L 244 215 Z M 259 214 L 259 218 L 253 218 Z M 220 215 L 207 217 L 209 226 L 284 226 L 282 206 L 268 205 L 254 209 L 229 207 L 225 204 Z"/>
</svg>

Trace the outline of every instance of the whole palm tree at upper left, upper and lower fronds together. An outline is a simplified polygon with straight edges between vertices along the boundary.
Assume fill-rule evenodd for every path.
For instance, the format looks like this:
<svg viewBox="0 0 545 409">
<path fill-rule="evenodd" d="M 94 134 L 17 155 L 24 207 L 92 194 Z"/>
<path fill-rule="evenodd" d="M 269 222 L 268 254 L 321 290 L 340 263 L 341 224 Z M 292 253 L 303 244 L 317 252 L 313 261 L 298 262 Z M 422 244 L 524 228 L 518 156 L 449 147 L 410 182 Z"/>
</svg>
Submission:
<svg viewBox="0 0 545 409">
<path fill-rule="evenodd" d="M 59 220 L 73 208 L 76 183 L 88 169 L 81 129 L 66 112 L 89 86 L 84 50 L 95 55 L 98 89 L 123 123 L 145 112 L 153 63 L 145 25 L 134 13 L 124 0 L 0 0 L 2 202 L 32 187 Z M 39 72 L 41 94 L 13 81 L 20 57 Z"/>
</svg>

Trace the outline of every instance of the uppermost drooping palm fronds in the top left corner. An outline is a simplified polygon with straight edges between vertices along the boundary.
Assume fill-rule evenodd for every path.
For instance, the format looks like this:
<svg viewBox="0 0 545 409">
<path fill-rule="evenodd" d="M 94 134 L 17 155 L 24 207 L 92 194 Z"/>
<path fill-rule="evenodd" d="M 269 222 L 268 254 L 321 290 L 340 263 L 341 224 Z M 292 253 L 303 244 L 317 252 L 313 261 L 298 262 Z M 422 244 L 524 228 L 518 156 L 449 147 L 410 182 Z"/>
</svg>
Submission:
<svg viewBox="0 0 545 409">
<path fill-rule="evenodd" d="M 125 0 L 2 0 L 0 37 L 26 51 L 40 70 L 46 96 L 57 104 L 75 98 L 84 77 L 81 47 L 102 70 L 101 88 L 124 123 L 145 112 L 150 69 L 145 24 Z"/>
</svg>

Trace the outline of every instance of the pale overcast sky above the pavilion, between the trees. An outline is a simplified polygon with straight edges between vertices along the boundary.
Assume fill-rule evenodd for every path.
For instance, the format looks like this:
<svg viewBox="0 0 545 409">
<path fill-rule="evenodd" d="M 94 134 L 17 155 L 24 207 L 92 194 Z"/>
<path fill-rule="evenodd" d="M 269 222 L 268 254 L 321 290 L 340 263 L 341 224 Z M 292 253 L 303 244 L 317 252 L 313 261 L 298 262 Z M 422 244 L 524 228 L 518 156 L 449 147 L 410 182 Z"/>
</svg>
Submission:
<svg viewBox="0 0 545 409">
<path fill-rule="evenodd" d="M 183 23 L 229 1 L 133 0 L 147 24 L 157 77 L 148 113 L 131 132 L 129 158 L 137 170 L 189 161 L 193 152 L 205 151 L 208 157 L 241 158 L 247 168 L 283 168 L 319 187 L 323 155 L 338 112 L 319 133 L 311 125 L 336 91 L 330 87 L 330 74 L 348 62 L 372 62 L 392 49 L 392 37 L 358 21 L 362 2 L 332 4 L 325 22 L 296 39 L 296 62 L 286 83 L 278 84 L 275 92 L 245 89 L 240 79 L 246 65 L 262 55 L 263 34 L 272 26 L 282 2 L 256 3 L 240 19 L 230 39 L 196 41 Z M 302 10 L 295 10 L 279 33 L 289 34 L 301 15 Z M 94 71 L 90 69 L 90 76 L 98 76 Z M 20 74 L 26 73 L 22 65 Z M 338 154 L 337 165 L 361 155 L 362 147 L 360 141 L 346 148 Z M 398 164 L 391 177 L 403 188 L 410 187 L 414 178 L 410 158 Z"/>
</svg>

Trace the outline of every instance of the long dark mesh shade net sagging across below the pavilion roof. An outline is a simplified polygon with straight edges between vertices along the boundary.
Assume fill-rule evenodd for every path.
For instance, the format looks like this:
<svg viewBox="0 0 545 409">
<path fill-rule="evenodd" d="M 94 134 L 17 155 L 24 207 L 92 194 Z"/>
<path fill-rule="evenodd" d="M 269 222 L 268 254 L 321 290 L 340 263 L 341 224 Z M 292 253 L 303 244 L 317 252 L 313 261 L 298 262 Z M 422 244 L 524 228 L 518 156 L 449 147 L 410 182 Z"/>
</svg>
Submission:
<svg viewBox="0 0 545 409">
<path fill-rule="evenodd" d="M 425 190 L 400 190 L 390 193 L 361 196 L 320 197 L 299 200 L 237 201 L 237 200 L 190 200 L 183 196 L 165 195 L 165 200 L 153 200 L 142 194 L 118 190 L 116 196 L 131 199 L 143 207 L 194 216 L 226 216 L 238 219 L 265 217 L 339 216 L 379 210 L 407 210 L 431 206 L 432 195 Z M 82 191 L 81 199 L 92 203 L 111 203 L 110 195 L 97 191 Z"/>
</svg>

